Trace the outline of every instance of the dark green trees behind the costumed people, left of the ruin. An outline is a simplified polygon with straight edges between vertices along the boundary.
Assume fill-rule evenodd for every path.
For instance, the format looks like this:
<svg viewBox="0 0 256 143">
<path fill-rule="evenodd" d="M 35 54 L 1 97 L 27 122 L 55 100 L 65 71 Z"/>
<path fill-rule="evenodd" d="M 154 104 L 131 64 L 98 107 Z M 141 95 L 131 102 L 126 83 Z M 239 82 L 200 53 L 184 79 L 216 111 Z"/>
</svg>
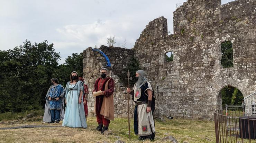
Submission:
<svg viewBox="0 0 256 143">
<path fill-rule="evenodd" d="M 82 53 L 68 56 L 62 65 L 58 59 L 60 54 L 47 41 L 26 40 L 13 50 L 0 51 L 0 113 L 42 109 L 51 78 L 64 85 L 72 71 L 82 76 Z"/>
</svg>

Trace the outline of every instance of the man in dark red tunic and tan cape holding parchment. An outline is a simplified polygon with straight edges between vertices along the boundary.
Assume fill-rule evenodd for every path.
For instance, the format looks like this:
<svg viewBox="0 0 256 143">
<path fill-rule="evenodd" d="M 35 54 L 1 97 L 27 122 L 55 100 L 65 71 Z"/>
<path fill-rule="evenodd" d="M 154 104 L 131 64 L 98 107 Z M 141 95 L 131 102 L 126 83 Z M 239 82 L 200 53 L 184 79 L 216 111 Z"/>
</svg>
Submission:
<svg viewBox="0 0 256 143">
<path fill-rule="evenodd" d="M 96 96 L 95 98 L 94 112 L 96 113 L 97 122 L 99 124 L 96 130 L 104 134 L 104 131 L 108 130 L 110 120 L 114 120 L 113 92 L 115 82 L 112 78 L 107 77 L 108 69 L 101 68 L 100 74 L 101 77 L 96 80 L 92 92 L 102 91 L 100 96 Z"/>
</svg>

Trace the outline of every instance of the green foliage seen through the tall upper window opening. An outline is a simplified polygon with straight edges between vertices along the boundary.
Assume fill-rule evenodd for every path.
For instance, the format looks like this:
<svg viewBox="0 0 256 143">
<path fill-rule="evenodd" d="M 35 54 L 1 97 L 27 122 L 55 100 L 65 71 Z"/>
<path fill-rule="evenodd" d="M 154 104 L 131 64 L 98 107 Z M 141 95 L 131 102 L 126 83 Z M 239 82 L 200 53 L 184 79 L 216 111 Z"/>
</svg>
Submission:
<svg viewBox="0 0 256 143">
<path fill-rule="evenodd" d="M 223 68 L 233 67 L 233 48 L 232 42 L 225 41 L 221 43 L 221 65 Z"/>
</svg>

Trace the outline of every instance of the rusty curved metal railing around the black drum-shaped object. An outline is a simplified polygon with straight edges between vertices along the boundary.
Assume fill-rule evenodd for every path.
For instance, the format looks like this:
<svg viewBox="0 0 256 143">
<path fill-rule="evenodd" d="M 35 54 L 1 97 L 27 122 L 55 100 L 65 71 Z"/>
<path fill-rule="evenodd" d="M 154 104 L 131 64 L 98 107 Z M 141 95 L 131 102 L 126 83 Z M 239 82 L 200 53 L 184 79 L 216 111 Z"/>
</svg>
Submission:
<svg viewBox="0 0 256 143">
<path fill-rule="evenodd" d="M 249 111 L 244 105 L 215 111 L 216 143 L 256 143 L 256 116 Z"/>
</svg>

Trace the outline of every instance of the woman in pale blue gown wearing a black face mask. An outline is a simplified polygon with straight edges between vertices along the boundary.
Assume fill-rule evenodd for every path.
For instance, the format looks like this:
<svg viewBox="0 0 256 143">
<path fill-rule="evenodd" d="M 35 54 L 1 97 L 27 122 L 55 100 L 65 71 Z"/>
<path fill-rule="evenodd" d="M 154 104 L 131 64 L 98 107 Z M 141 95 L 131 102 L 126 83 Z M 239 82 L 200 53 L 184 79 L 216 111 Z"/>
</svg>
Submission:
<svg viewBox="0 0 256 143">
<path fill-rule="evenodd" d="M 87 128 L 83 106 L 83 83 L 77 72 L 72 72 L 66 88 L 66 108 L 62 126 Z"/>
</svg>

